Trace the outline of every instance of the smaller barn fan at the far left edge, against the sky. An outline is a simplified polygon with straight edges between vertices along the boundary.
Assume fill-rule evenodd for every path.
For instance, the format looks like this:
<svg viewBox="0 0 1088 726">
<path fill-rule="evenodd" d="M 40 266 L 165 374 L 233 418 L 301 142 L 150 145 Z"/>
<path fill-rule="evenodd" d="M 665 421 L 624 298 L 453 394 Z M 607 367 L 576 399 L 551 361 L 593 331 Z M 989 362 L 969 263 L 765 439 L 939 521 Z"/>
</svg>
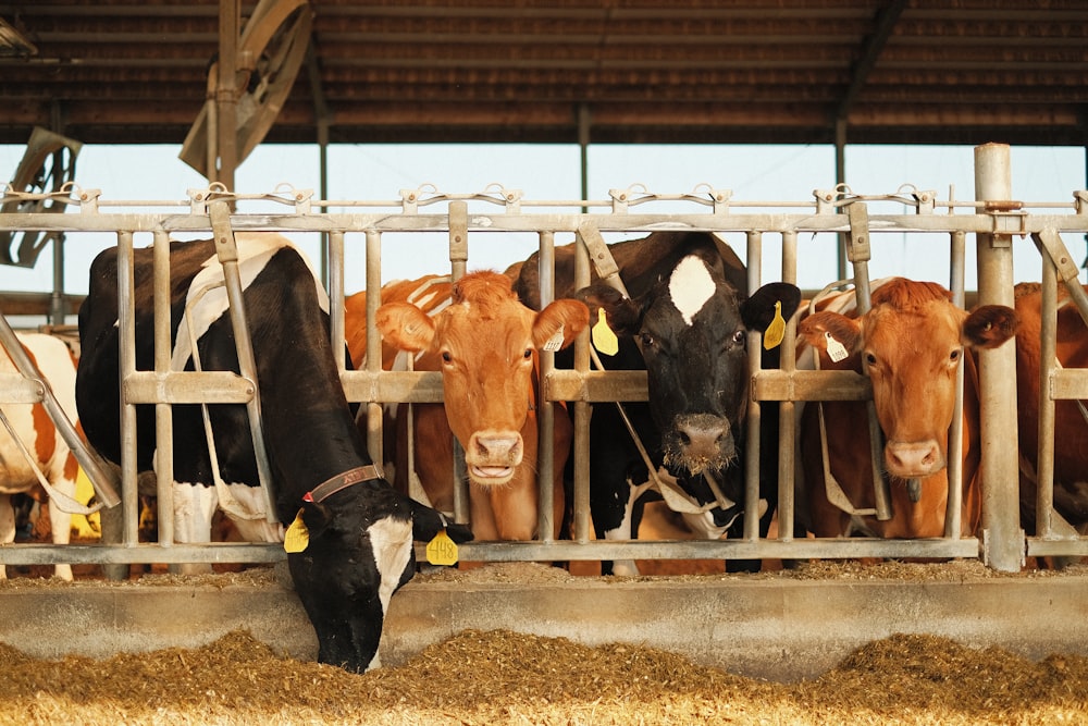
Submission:
<svg viewBox="0 0 1088 726">
<path fill-rule="evenodd" d="M 8 184 L 9 193 L 47 195 L 61 192 L 75 180 L 75 158 L 83 144 L 35 126 L 26 151 L 15 169 L 15 176 Z M 65 204 L 53 198 L 26 199 L 3 195 L 0 214 L 63 212 Z M 38 255 L 52 241 L 64 239 L 63 232 L 26 230 L 0 232 L 0 263 L 15 267 L 34 267 Z"/>
</svg>

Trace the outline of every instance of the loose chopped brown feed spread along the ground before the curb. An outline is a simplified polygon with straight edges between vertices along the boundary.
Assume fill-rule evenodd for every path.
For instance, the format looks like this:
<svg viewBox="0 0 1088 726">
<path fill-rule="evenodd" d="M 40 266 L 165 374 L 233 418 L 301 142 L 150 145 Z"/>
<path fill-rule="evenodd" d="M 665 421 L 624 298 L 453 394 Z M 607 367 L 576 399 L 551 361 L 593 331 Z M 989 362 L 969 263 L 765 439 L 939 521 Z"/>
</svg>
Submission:
<svg viewBox="0 0 1088 726">
<path fill-rule="evenodd" d="M 536 571 L 565 577 L 549 570 Z M 948 566 L 839 571 L 904 573 L 964 576 Z M 826 566 L 809 573 L 827 575 Z M 0 644 L 0 724 L 1088 725 L 1088 659 L 1031 662 L 916 635 L 868 643 L 821 677 L 795 684 L 741 677 L 655 649 L 590 648 L 508 630 L 466 630 L 404 666 L 361 676 L 288 659 L 240 631 L 199 649 L 101 661 L 35 660 Z"/>
</svg>

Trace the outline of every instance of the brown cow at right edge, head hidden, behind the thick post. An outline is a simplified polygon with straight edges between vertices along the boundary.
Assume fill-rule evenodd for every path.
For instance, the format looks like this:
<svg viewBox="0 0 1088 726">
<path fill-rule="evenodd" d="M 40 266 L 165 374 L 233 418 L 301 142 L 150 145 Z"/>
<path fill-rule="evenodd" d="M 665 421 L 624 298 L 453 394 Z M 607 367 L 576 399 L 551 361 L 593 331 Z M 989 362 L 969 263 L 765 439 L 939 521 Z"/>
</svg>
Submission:
<svg viewBox="0 0 1088 726">
<path fill-rule="evenodd" d="M 1088 290 L 1088 287 L 1085 287 Z M 1038 283 L 1016 286 L 1016 402 L 1019 411 L 1021 504 L 1023 525 L 1036 524 L 1039 466 L 1039 333 L 1042 295 Z M 1055 354 L 1063 368 L 1088 368 L 1088 328 L 1059 286 Z M 1088 525 L 1088 421 L 1075 401 L 1054 404 L 1054 509 L 1076 528 Z"/>
</svg>

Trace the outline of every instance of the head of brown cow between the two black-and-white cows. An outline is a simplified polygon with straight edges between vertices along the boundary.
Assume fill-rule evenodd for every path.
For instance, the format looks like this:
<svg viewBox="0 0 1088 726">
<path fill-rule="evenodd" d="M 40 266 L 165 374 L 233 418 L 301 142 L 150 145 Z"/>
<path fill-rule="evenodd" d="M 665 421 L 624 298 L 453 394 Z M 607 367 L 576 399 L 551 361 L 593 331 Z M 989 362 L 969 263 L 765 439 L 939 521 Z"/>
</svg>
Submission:
<svg viewBox="0 0 1088 726">
<path fill-rule="evenodd" d="M 536 352 L 570 345 L 588 322 L 578 300 L 533 312 L 495 272 L 461 278 L 434 319 L 407 303 L 383 305 L 376 316 L 386 341 L 424 352 L 419 367 L 442 371 L 449 428 L 465 448 L 469 478 L 482 485 L 507 483 L 521 463 Z"/>
</svg>

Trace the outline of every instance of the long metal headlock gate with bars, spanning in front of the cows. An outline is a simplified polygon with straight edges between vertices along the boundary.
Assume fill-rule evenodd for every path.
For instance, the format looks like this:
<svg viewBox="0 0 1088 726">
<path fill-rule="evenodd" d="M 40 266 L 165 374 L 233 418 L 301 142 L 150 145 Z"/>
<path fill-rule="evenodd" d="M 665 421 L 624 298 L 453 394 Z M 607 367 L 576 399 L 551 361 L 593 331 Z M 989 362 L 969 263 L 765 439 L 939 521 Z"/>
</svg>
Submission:
<svg viewBox="0 0 1088 726">
<path fill-rule="evenodd" d="M 904 192 L 903 189 L 910 190 Z M 4 195 L 17 196 L 12 192 Z M 554 248 L 556 235 L 573 235 L 579 245 L 576 284 L 588 284 L 591 264 L 597 264 L 607 276 L 610 258 L 604 248 L 604 235 L 614 233 L 650 233 L 659 230 L 700 230 L 716 233 L 741 233 L 746 239 L 746 266 L 751 288 L 764 280 L 763 246 L 767 239 L 781 245 L 781 280 L 798 280 L 798 239 L 800 235 L 837 234 L 853 267 L 855 290 L 860 302 L 867 298 L 868 261 L 877 239 L 883 233 L 907 235 L 940 233 L 950 243 L 950 287 L 954 299 L 964 299 L 964 251 L 966 235 L 977 242 L 978 303 L 1013 305 L 1012 250 L 1014 237 L 1030 237 L 1042 259 L 1044 320 L 1054 318 L 1058 281 L 1067 283 L 1081 315 L 1088 319 L 1088 304 L 1080 294 L 1077 267 L 1061 239 L 1062 233 L 1088 232 L 1088 193 L 1074 192 L 1066 202 L 1025 205 L 1012 201 L 1009 148 L 986 145 L 976 149 L 976 198 L 979 201 L 939 201 L 932 192 L 901 187 L 893 194 L 857 195 L 846 187 L 816 190 L 806 201 L 740 201 L 732 193 L 701 185 L 691 194 L 651 194 L 644 188 L 614 190 L 607 200 L 523 199 L 516 190 L 489 187 L 480 194 L 441 194 L 423 187 L 401 192 L 395 201 L 317 200 L 308 190 L 289 188 L 270 194 L 240 195 L 212 186 L 190 190 L 184 202 L 176 201 L 108 201 L 98 190 L 71 187 L 53 195 L 75 209 L 66 214 L 0 214 L 0 232 L 44 230 L 65 232 L 107 232 L 116 235 L 120 259 L 128 266 L 120 284 L 122 300 L 122 360 L 125 406 L 123 439 L 127 460 L 121 470 L 121 505 L 112 509 L 120 514 L 120 542 L 102 544 L 18 544 L 0 547 L 0 563 L 120 565 L 131 563 L 256 563 L 284 557 L 279 545 L 212 543 L 185 544 L 173 541 L 169 516 L 160 516 L 159 542 L 140 543 L 137 538 L 138 501 L 135 470 L 135 405 L 157 406 L 160 462 L 172 460 L 170 445 L 170 406 L 182 403 L 249 404 L 259 392 L 255 382 L 243 376 L 222 371 L 180 372 L 169 370 L 169 256 L 165 243 L 171 235 L 233 231 L 282 232 L 292 235 L 322 235 L 322 250 L 329 260 L 329 292 L 333 302 L 332 340 L 341 345 L 344 334 L 345 258 L 360 238 L 364 245 L 366 287 L 381 286 L 383 235 L 442 233 L 449 239 L 449 264 L 454 278 L 460 276 L 469 260 L 470 236 L 478 234 L 534 233 L 539 236 L 542 267 L 541 299 L 554 298 Z M 870 207 L 881 202 L 898 202 L 913 208 L 911 213 L 877 214 Z M 236 211 L 224 211 L 225 205 Z M 695 211 L 639 213 L 638 208 L 650 202 Z M 469 206 L 472 210 L 469 210 Z M 136 206 L 170 208 L 170 211 L 132 211 Z M 259 211 L 247 211 L 249 207 Z M 123 208 L 122 211 L 111 211 Z M 271 209 L 271 211 L 268 211 Z M 435 211 L 429 211 L 434 209 Z M 539 211 L 537 211 L 539 209 Z M 938 209 L 941 210 L 938 213 Z M 333 211 L 336 210 L 336 211 Z M 157 320 L 156 368 L 137 371 L 134 366 L 132 322 L 132 250 L 136 235 L 150 235 L 156 255 Z M 76 241 L 70 241 L 73 244 Z M 591 251 L 592 250 L 592 251 Z M 421 271 L 438 272 L 434 269 Z M 774 275 L 771 275 L 774 276 Z M 230 285 L 230 283 L 228 283 Z M 350 291 L 354 292 L 354 291 Z M 867 300 L 864 300 L 867 303 Z M 373 324 L 379 299 L 368 296 L 368 350 L 381 348 L 380 334 Z M 870 398 L 867 379 L 850 371 L 812 371 L 796 369 L 795 319 L 787 327 L 783 341 L 782 368 L 761 370 L 758 333 L 751 333 L 749 348 L 752 365 L 752 386 L 749 402 L 749 460 L 758 452 L 761 406 L 780 402 L 782 406 L 779 453 L 779 534 L 759 538 L 757 512 L 745 513 L 744 537 L 716 541 L 633 541 L 614 542 L 592 539 L 589 512 L 589 417 L 594 405 L 610 402 L 646 399 L 644 371 L 598 371 L 590 366 L 589 335 L 576 344 L 574 368 L 554 367 L 551 354 L 542 356 L 543 395 L 548 401 L 570 402 L 574 420 L 574 521 L 570 541 L 551 537 L 551 488 L 541 487 L 542 522 L 545 534 L 534 542 L 469 543 L 461 546 L 461 558 L 470 561 L 599 561 L 647 558 L 838 558 L 838 557 L 980 557 L 989 566 L 1006 571 L 1021 567 L 1026 555 L 1088 555 L 1088 539 L 1061 520 L 1053 510 L 1052 485 L 1047 480 L 1053 470 L 1053 406 L 1058 399 L 1088 399 L 1088 371 L 1058 369 L 1044 361 L 1040 385 L 1044 392 L 1040 428 L 1049 436 L 1049 445 L 1040 446 L 1038 534 L 1026 538 L 1019 522 L 1018 459 L 1016 436 L 1015 348 L 1006 344 L 980 353 L 980 399 L 982 432 L 984 534 L 981 539 L 961 538 L 959 527 L 950 526 L 947 537 L 927 540 L 878 540 L 869 538 L 812 539 L 794 538 L 794 447 L 796 432 L 792 415 L 795 407 L 808 401 L 862 401 Z M 1047 331 L 1050 331 L 1049 333 Z M 1043 347 L 1053 350 L 1053 325 L 1043 324 Z M 1047 335 L 1050 335 L 1047 343 Z M 244 337 L 244 336 L 243 336 Z M 125 347 L 127 346 L 127 352 Z M 1051 355 L 1052 358 L 1052 355 Z M 380 356 L 369 356 L 364 370 L 343 370 L 342 381 L 348 399 L 369 408 L 368 444 L 371 452 L 382 451 L 380 421 L 383 404 L 393 402 L 434 403 L 442 401 L 441 373 L 415 371 L 382 371 Z M 27 393 L 25 383 L 0 381 L 0 401 L 40 401 L 35 387 Z M 254 407 L 251 406 L 251 410 Z M 542 407 L 548 411 L 549 407 Z M 1049 423 L 1048 423 L 1049 422 Z M 1049 424 L 1049 429 L 1047 429 Z M 551 438 L 552 420 L 542 416 L 541 434 Z M 542 446 L 539 473 L 542 481 L 551 480 L 554 470 L 552 447 Z M 955 457 L 952 457 L 955 458 Z M 380 460 L 380 457 L 375 457 Z M 955 465 L 953 464 L 953 467 Z M 171 467 L 160 470 L 160 502 L 169 507 Z M 756 467 L 749 466 L 746 482 L 750 501 L 758 499 Z M 92 476 L 107 477 L 101 472 Z M 956 476 L 955 471 L 952 472 Z M 109 482 L 101 491 L 109 492 Z M 879 499 L 879 497 L 878 497 Z M 108 502 L 109 503 L 109 502 Z M 949 497 L 949 520 L 959 522 L 960 502 Z M 169 510 L 169 509 L 168 509 Z M 103 513 L 108 509 L 103 509 Z"/>
</svg>

